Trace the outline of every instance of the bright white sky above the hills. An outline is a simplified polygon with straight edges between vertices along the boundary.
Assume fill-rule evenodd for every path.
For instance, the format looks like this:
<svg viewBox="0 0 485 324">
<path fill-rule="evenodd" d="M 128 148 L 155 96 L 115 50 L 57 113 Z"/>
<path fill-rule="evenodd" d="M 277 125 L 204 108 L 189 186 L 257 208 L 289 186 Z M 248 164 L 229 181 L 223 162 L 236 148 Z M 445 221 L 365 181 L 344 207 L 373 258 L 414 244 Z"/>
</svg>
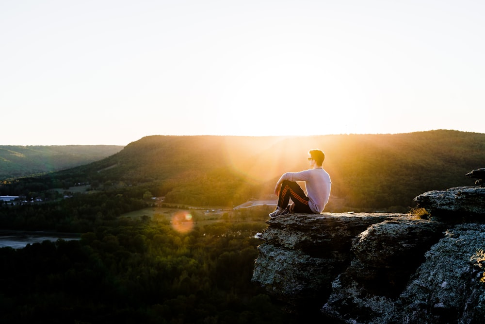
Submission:
<svg viewBox="0 0 485 324">
<path fill-rule="evenodd" d="M 0 145 L 484 133 L 483 0 L 0 2 Z"/>
</svg>

